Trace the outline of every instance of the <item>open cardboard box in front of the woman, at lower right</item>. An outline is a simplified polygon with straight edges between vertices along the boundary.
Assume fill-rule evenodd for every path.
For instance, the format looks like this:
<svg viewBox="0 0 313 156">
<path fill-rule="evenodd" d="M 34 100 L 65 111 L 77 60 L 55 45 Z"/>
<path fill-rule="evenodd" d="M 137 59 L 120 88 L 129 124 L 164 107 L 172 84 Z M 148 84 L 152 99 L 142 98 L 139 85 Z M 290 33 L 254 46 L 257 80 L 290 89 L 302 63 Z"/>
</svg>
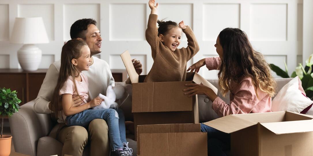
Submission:
<svg viewBox="0 0 313 156">
<path fill-rule="evenodd" d="M 313 155 L 313 117 L 292 112 L 228 115 L 204 124 L 231 134 L 231 154 Z"/>
</svg>

